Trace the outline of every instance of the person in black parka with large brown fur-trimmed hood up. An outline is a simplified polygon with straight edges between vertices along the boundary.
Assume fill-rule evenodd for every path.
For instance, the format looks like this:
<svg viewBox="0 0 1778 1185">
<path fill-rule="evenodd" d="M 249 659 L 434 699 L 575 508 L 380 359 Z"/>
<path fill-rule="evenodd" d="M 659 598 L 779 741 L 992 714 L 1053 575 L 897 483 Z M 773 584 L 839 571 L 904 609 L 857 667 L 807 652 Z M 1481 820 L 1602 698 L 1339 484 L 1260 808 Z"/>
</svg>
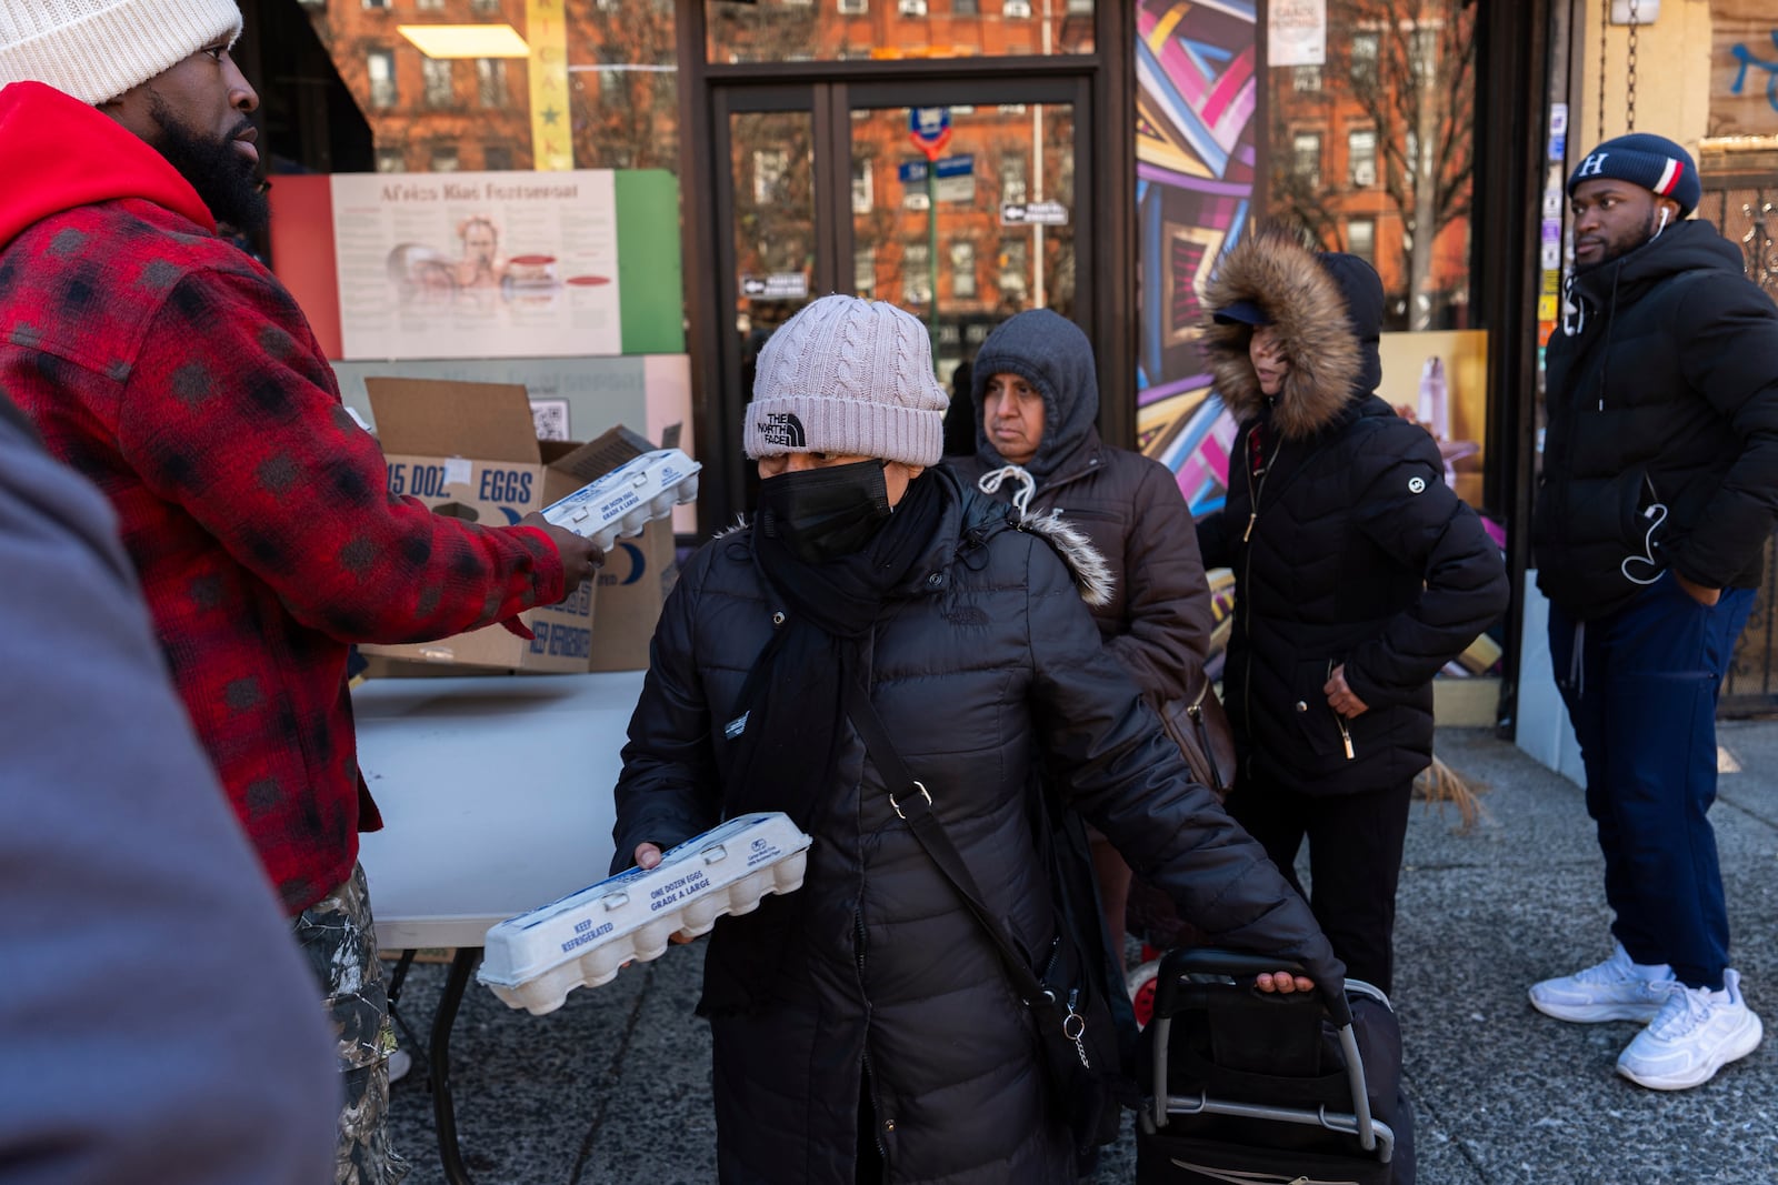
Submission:
<svg viewBox="0 0 1778 1185">
<path fill-rule="evenodd" d="M 1264 226 L 1205 306 L 1204 354 L 1241 425 L 1229 501 L 1198 522 L 1205 567 L 1236 572 L 1229 812 L 1293 881 L 1309 840 L 1316 919 L 1350 974 L 1389 991 L 1431 679 L 1506 608 L 1506 570 L 1433 437 L 1376 394 L 1371 265 Z"/>
</svg>

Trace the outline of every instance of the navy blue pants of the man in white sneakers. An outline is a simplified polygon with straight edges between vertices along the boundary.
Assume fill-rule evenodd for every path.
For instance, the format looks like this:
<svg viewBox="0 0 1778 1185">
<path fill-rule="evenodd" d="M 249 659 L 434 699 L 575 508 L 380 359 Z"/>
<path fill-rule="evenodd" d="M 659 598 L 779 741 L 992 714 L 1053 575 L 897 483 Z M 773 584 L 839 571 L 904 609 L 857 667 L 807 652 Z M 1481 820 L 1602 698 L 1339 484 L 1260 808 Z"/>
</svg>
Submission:
<svg viewBox="0 0 1778 1185">
<path fill-rule="evenodd" d="M 1611 933 L 1638 963 L 1721 988 L 1728 911 L 1716 863 L 1716 698 L 1753 590 L 1716 606 L 1671 574 L 1584 631 L 1550 606 L 1550 661 L 1586 766 Z"/>
</svg>

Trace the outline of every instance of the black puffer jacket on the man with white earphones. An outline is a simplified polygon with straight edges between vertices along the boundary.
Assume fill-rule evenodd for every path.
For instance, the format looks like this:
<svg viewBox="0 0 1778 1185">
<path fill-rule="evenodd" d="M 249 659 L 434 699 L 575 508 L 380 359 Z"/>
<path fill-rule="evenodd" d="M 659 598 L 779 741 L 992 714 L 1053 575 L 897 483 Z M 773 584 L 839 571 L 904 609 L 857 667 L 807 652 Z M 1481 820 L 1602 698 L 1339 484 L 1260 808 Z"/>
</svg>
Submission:
<svg viewBox="0 0 1778 1185">
<path fill-rule="evenodd" d="M 1778 512 L 1778 309 L 1705 222 L 1579 275 L 1550 338 L 1538 588 L 1604 616 L 1661 569 L 1755 588 Z M 1661 522 L 1645 510 L 1661 503 Z M 1659 515 L 1657 515 L 1659 517 Z"/>
</svg>

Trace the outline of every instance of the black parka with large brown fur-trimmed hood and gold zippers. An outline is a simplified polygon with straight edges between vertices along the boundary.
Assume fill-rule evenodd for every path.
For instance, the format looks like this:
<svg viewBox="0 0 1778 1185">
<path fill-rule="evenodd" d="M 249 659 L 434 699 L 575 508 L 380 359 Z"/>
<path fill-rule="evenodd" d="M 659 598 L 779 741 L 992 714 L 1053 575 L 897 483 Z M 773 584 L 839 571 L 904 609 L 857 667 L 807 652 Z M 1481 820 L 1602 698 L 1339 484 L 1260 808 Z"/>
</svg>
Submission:
<svg viewBox="0 0 1778 1185">
<path fill-rule="evenodd" d="M 1433 437 L 1374 394 L 1383 291 L 1367 265 L 1250 238 L 1207 293 L 1211 307 L 1237 300 L 1269 313 L 1291 362 L 1268 398 L 1252 330 L 1205 330 L 1241 423 L 1229 501 L 1198 545 L 1236 574 L 1223 704 L 1243 775 L 1305 794 L 1401 785 L 1431 762 L 1433 675 L 1506 608 L 1501 553 L 1444 483 Z M 1341 664 L 1369 705 L 1353 720 L 1323 691 Z"/>
</svg>

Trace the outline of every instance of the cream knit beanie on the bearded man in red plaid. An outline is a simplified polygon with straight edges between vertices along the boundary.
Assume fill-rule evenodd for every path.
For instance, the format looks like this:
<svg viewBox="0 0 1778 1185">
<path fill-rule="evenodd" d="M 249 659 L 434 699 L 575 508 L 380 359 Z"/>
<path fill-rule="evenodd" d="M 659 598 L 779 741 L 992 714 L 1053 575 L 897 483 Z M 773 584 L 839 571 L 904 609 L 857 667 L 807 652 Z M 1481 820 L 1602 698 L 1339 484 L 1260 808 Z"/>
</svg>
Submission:
<svg viewBox="0 0 1778 1185">
<path fill-rule="evenodd" d="M 0 85 L 43 82 L 107 103 L 238 36 L 235 0 L 0 0 Z"/>
</svg>

